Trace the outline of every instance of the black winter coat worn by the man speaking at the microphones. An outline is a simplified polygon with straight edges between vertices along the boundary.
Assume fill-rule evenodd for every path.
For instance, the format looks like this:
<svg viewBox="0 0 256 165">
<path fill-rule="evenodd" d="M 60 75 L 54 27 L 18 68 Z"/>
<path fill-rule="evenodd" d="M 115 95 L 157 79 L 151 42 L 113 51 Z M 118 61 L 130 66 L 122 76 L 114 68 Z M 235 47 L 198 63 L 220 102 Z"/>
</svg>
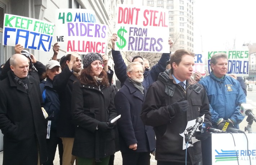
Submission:
<svg viewBox="0 0 256 165">
<path fill-rule="evenodd" d="M 169 115 L 168 105 L 187 100 L 189 109 L 184 113 Z M 203 86 L 191 78 L 186 80 L 186 90 L 176 84 L 171 70 L 166 70 L 158 81 L 150 85 L 142 106 L 141 118 L 144 124 L 153 126 L 156 135 L 156 155 L 158 161 L 185 163 L 185 150 L 182 150 L 183 133 L 187 122 L 205 115 L 204 121 L 210 122 L 209 102 Z M 202 160 L 201 142 L 189 147 L 192 164 Z"/>
</svg>

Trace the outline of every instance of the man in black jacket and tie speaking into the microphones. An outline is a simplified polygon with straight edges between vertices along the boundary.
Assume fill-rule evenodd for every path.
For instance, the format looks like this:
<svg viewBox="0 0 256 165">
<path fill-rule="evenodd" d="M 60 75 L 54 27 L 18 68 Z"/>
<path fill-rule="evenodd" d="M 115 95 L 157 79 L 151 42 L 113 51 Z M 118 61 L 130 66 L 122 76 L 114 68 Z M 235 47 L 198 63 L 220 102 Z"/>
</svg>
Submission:
<svg viewBox="0 0 256 165">
<path fill-rule="evenodd" d="M 191 78 L 194 56 L 177 50 L 170 59 L 171 69 L 160 73 L 147 90 L 141 118 L 145 125 L 154 127 L 158 165 L 184 165 L 184 139 L 180 134 L 187 122 L 202 115 L 204 121 L 211 121 L 207 93 Z M 201 142 L 189 147 L 187 155 L 188 165 L 198 165 L 202 161 Z"/>
</svg>

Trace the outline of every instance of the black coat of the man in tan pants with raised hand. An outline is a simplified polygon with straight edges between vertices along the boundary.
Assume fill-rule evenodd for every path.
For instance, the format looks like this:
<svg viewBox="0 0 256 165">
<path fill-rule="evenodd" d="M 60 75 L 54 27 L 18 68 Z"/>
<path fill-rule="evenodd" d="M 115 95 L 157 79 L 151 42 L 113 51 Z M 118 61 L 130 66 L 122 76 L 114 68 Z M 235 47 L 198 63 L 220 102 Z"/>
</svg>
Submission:
<svg viewBox="0 0 256 165">
<path fill-rule="evenodd" d="M 78 79 L 68 66 L 53 78 L 53 89 L 59 94 L 61 104 L 57 123 L 58 137 L 75 137 L 75 125 L 71 116 L 71 95 L 74 81 L 78 81 Z"/>
</svg>

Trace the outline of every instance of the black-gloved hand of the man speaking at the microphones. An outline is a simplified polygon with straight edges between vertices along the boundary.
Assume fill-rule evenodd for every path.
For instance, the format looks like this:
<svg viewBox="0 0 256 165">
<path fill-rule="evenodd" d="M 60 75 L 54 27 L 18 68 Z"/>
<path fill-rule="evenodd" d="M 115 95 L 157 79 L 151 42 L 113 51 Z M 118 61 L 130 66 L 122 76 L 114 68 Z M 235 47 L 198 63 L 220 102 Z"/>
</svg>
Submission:
<svg viewBox="0 0 256 165">
<path fill-rule="evenodd" d="M 171 116 L 174 116 L 177 113 L 186 112 L 188 109 L 189 102 L 187 100 L 168 105 L 168 111 Z"/>
</svg>

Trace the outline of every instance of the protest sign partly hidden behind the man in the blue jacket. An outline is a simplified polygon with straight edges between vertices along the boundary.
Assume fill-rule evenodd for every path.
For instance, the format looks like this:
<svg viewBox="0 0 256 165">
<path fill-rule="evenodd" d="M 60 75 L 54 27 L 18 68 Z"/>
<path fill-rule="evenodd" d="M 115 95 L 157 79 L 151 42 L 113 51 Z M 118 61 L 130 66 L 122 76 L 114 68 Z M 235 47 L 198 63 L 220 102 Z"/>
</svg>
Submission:
<svg viewBox="0 0 256 165">
<path fill-rule="evenodd" d="M 226 53 L 228 56 L 228 72 L 227 74 L 235 74 L 237 76 L 249 76 L 249 51 L 248 50 L 228 50 L 228 51 L 210 51 L 208 52 L 208 71 L 211 71 L 211 57 L 217 53 Z"/>
</svg>

